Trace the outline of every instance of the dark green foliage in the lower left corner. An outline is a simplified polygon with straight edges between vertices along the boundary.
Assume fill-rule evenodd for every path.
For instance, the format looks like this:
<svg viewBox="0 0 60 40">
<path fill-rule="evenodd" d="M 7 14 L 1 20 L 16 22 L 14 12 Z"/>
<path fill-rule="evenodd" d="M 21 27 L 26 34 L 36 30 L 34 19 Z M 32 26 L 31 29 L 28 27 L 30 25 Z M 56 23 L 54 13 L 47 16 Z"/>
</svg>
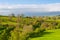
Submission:
<svg viewBox="0 0 60 40">
<path fill-rule="evenodd" d="M 14 27 L 7 27 L 8 25 L 3 25 L 0 27 L 0 40 L 8 40 L 11 37 L 10 32 Z"/>
</svg>

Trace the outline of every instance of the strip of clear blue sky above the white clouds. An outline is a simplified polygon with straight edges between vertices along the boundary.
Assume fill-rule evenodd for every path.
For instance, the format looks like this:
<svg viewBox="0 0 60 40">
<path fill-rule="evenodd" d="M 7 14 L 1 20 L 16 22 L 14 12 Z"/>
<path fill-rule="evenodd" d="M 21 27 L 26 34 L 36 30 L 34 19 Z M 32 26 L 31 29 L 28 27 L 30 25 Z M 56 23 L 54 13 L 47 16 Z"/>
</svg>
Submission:
<svg viewBox="0 0 60 40">
<path fill-rule="evenodd" d="M 0 0 L 0 4 L 49 4 L 60 3 L 60 0 Z"/>
</svg>

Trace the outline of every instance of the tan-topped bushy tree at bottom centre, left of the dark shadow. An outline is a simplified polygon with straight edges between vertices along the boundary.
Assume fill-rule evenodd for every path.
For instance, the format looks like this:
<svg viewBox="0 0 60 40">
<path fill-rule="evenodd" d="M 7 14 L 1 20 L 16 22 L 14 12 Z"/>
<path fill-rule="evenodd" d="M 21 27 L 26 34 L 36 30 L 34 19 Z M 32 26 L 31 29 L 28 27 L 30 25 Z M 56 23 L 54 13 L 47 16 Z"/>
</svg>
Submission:
<svg viewBox="0 0 60 40">
<path fill-rule="evenodd" d="M 21 34 L 21 40 L 28 40 L 30 34 L 33 32 L 33 26 L 32 25 L 24 25 L 23 32 Z"/>
</svg>

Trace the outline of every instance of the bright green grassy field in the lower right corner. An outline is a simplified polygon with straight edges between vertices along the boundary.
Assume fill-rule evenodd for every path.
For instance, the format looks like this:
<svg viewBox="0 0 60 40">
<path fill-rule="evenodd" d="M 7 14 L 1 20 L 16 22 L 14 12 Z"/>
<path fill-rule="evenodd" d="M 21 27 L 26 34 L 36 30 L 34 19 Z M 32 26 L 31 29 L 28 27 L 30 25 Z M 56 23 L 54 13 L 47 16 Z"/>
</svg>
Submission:
<svg viewBox="0 0 60 40">
<path fill-rule="evenodd" d="M 44 32 L 43 36 L 31 40 L 60 40 L 60 29 L 48 30 Z"/>
</svg>

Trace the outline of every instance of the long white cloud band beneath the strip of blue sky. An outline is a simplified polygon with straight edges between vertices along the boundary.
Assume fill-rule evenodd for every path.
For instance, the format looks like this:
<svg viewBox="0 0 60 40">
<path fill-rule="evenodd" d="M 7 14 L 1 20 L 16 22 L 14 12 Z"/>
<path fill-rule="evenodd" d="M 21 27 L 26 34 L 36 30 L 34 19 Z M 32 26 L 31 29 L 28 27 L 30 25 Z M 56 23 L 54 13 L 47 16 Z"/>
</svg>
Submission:
<svg viewBox="0 0 60 40">
<path fill-rule="evenodd" d="M 41 12 L 41 11 L 60 11 L 60 3 L 54 4 L 0 4 L 0 9 L 20 9 L 22 11 Z"/>
</svg>

